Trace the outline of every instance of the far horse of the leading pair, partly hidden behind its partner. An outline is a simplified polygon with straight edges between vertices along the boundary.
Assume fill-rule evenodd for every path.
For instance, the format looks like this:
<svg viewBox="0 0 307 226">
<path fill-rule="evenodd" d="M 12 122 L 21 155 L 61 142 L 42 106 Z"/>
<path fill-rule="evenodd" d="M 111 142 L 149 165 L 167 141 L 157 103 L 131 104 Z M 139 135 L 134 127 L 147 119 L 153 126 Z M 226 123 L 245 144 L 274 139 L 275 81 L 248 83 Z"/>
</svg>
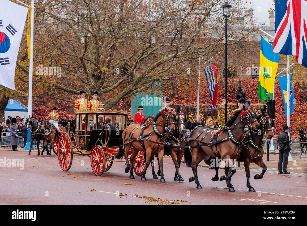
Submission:
<svg viewBox="0 0 307 226">
<path fill-rule="evenodd" d="M 263 116 L 264 115 L 264 116 Z M 257 116 L 257 121 L 260 124 L 260 129 L 258 131 L 254 131 L 251 128 L 244 132 L 243 146 L 237 161 L 244 162 L 245 173 L 246 173 L 246 186 L 248 190 L 251 192 L 255 192 L 255 189 L 250 185 L 250 164 L 255 163 L 262 168 L 262 173 L 256 174 L 254 179 L 262 179 L 264 173 L 266 172 L 266 165 L 263 162 L 263 135 L 266 134 L 267 138 L 271 139 L 273 134 L 274 120 L 270 118 L 264 111 L 262 114 Z M 212 158 L 206 159 L 206 163 L 210 165 L 212 162 Z M 218 169 L 219 166 L 214 167 L 216 170 L 215 177 L 212 177 L 212 181 L 217 181 L 219 179 Z M 225 174 L 228 175 L 229 167 L 225 167 Z M 226 180 L 228 188 L 233 188 L 231 184 L 231 179 Z M 234 189 L 234 188 L 233 188 Z"/>
</svg>

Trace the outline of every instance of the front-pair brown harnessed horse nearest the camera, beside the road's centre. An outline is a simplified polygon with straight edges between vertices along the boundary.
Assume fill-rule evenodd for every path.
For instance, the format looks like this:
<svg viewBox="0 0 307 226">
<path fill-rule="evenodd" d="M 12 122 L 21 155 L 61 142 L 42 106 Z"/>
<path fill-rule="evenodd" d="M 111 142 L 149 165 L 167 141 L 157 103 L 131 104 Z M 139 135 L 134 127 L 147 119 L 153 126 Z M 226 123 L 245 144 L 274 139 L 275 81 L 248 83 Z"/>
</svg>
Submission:
<svg viewBox="0 0 307 226">
<path fill-rule="evenodd" d="M 243 106 L 243 110 L 237 110 L 226 122 L 226 125 L 212 134 L 213 128 L 197 126 L 188 136 L 188 143 L 190 148 L 185 149 L 185 161 L 187 166 L 192 167 L 194 177 L 190 177 L 189 181 L 196 183 L 197 189 L 202 189 L 198 177 L 197 167 L 198 164 L 208 154 L 211 157 L 218 157 L 226 162 L 226 165 L 231 167 L 229 174 L 225 177 L 221 177 L 220 180 L 229 180 L 236 172 L 236 168 L 233 160 L 238 157 L 240 152 L 239 146 L 243 142 L 244 127 L 254 127 L 258 130 L 260 126 L 256 114 L 249 109 L 246 110 Z M 210 137 L 210 134 L 212 135 Z M 217 140 L 218 135 L 220 135 Z M 234 191 L 233 188 L 229 191 Z"/>
</svg>

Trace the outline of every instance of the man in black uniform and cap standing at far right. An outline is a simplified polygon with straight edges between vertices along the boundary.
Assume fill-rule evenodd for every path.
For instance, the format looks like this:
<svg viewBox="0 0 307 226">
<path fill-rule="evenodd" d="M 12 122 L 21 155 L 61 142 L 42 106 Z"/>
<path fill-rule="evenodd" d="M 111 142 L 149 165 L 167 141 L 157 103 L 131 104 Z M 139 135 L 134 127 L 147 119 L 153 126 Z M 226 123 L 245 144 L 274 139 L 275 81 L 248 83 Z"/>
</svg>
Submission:
<svg viewBox="0 0 307 226">
<path fill-rule="evenodd" d="M 278 174 L 290 174 L 287 171 L 288 156 L 290 152 L 289 127 L 282 126 L 282 133 L 279 134 L 277 140 L 277 148 L 279 148 Z"/>
</svg>

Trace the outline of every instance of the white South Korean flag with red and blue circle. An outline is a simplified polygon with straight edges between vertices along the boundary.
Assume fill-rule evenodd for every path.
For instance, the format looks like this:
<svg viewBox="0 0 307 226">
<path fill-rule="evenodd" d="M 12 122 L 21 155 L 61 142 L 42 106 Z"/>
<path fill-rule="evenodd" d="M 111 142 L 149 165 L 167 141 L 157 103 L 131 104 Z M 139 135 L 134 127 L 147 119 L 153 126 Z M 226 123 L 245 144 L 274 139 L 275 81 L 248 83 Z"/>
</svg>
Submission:
<svg viewBox="0 0 307 226">
<path fill-rule="evenodd" d="M 0 84 L 15 90 L 15 67 L 28 8 L 0 2 Z"/>
</svg>

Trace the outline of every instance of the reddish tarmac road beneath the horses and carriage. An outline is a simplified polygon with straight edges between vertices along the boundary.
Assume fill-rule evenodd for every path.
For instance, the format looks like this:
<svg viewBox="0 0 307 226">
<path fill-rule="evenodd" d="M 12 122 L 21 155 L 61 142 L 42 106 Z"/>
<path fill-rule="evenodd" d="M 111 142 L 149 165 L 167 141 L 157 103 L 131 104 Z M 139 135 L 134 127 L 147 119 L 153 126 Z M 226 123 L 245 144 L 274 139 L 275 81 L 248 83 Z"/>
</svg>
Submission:
<svg viewBox="0 0 307 226">
<path fill-rule="evenodd" d="M 236 192 L 229 192 L 224 189 L 226 181 L 211 181 L 215 170 L 199 167 L 203 189 L 198 190 L 194 181 L 188 181 L 193 173 L 185 164 L 180 168 L 185 181 L 173 181 L 175 167 L 171 158 L 163 159 L 166 183 L 161 183 L 152 179 L 151 168 L 147 170 L 147 181 L 135 175 L 130 179 L 124 172 L 124 162 L 114 162 L 108 172 L 97 177 L 87 156 L 74 155 L 71 169 L 64 172 L 53 153 L 51 157 L 36 154 L 0 150 L 0 162 L 5 157 L 24 158 L 23 170 L 0 167 L 0 204 L 307 204 L 307 177 L 265 174 L 263 179 L 255 180 L 256 173 L 251 173 L 256 192 L 248 192 L 245 172 L 237 170 L 231 180 Z M 224 171 L 219 170 L 219 177 L 222 175 Z"/>
</svg>

